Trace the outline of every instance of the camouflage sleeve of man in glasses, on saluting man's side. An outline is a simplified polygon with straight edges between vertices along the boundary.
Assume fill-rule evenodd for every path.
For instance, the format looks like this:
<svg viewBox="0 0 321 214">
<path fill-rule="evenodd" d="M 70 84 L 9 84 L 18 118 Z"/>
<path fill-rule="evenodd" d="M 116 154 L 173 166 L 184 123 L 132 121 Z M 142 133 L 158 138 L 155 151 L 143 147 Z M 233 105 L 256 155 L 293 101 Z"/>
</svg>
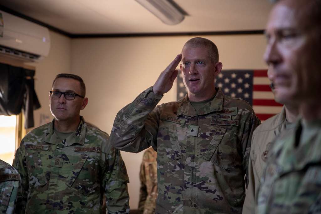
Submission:
<svg viewBox="0 0 321 214">
<path fill-rule="evenodd" d="M 105 156 L 103 168 L 103 181 L 102 186 L 105 189 L 106 206 L 108 213 L 112 214 L 124 214 L 129 213 L 129 195 L 127 189 L 127 183 L 129 178 L 126 171 L 125 163 L 120 155 L 119 150 L 116 150 L 110 146 L 110 143 L 106 143 L 108 153 L 102 155 Z"/>
</svg>

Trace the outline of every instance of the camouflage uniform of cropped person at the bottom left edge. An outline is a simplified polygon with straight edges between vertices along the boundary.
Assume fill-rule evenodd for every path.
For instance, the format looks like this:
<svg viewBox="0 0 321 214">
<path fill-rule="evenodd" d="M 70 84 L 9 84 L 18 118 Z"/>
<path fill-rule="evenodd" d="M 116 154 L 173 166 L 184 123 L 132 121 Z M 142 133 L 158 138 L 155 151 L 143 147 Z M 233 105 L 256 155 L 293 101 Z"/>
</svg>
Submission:
<svg viewBox="0 0 321 214">
<path fill-rule="evenodd" d="M 17 199 L 21 197 L 20 180 L 18 171 L 0 160 L 0 213 L 14 213 Z M 23 213 L 23 207 L 21 209 Z"/>
</svg>

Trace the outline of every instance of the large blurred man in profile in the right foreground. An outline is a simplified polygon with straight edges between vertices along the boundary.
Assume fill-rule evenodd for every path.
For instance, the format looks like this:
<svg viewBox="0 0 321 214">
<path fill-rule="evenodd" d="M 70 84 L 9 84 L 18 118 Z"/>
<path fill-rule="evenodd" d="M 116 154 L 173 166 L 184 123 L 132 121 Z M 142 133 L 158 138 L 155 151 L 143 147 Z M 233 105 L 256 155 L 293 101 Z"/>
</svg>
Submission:
<svg viewBox="0 0 321 214">
<path fill-rule="evenodd" d="M 266 27 L 265 60 L 276 96 L 299 106 L 300 120 L 281 133 L 263 173 L 257 213 L 321 211 L 321 0 L 281 0 Z"/>
</svg>

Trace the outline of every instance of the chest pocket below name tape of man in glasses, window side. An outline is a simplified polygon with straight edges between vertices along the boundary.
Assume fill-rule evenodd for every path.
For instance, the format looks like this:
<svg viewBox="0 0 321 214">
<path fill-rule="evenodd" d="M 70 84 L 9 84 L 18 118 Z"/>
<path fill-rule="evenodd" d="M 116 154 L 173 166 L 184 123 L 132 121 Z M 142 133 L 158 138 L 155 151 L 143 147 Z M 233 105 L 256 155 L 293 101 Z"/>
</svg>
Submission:
<svg viewBox="0 0 321 214">
<path fill-rule="evenodd" d="M 48 150 L 48 145 L 26 145 L 26 165 L 31 191 L 32 189 L 37 189 L 39 186 L 47 184 L 47 179 L 43 171 L 42 157 L 47 156 Z"/>
</svg>

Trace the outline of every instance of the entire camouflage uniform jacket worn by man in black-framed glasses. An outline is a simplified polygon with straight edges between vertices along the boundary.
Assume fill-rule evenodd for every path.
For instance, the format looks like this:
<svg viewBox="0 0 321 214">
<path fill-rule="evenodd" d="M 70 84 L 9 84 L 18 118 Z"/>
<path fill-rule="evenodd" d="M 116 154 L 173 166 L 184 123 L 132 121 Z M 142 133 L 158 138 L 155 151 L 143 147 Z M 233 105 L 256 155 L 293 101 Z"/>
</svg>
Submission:
<svg viewBox="0 0 321 214">
<path fill-rule="evenodd" d="M 28 133 L 15 154 L 27 213 L 128 213 L 128 176 L 108 135 L 81 117 L 77 130 L 61 141 L 54 121 Z"/>
</svg>

